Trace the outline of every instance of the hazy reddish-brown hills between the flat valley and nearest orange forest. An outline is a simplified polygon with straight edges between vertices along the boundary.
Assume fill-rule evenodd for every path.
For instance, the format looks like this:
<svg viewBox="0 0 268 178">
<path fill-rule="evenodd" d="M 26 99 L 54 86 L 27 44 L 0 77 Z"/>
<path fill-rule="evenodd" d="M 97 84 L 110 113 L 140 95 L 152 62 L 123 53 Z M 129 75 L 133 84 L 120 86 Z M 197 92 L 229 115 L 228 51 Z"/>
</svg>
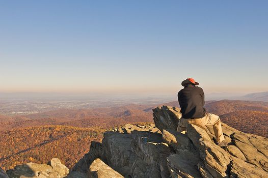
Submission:
<svg viewBox="0 0 268 178">
<path fill-rule="evenodd" d="M 0 122 L 0 131 L 35 126 L 64 125 L 75 127 L 110 127 L 125 123 L 152 122 L 150 106 L 129 104 L 121 107 L 94 109 L 58 109 L 29 115 L 6 117 Z M 21 119 L 19 119 L 21 118 Z"/>
</svg>

